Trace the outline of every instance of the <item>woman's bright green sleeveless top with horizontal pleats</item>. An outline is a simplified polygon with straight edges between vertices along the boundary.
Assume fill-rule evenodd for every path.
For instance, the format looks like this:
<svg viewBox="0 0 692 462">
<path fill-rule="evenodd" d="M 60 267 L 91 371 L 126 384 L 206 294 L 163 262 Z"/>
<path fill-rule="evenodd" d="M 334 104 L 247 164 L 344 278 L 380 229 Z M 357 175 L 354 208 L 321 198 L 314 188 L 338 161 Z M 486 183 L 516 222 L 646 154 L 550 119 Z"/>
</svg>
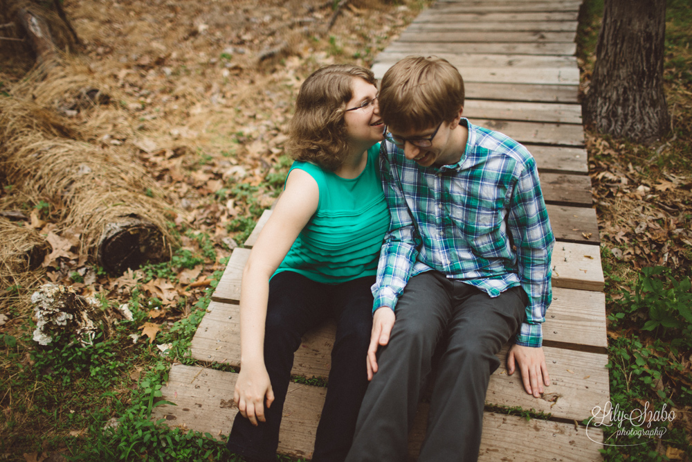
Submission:
<svg viewBox="0 0 692 462">
<path fill-rule="evenodd" d="M 313 163 L 295 161 L 317 181 L 317 211 L 300 231 L 275 274 L 293 271 L 319 283 L 343 283 L 376 274 L 390 212 L 378 168 L 380 144 L 367 151 L 361 175 L 344 179 Z M 291 172 L 289 170 L 289 173 Z"/>
</svg>

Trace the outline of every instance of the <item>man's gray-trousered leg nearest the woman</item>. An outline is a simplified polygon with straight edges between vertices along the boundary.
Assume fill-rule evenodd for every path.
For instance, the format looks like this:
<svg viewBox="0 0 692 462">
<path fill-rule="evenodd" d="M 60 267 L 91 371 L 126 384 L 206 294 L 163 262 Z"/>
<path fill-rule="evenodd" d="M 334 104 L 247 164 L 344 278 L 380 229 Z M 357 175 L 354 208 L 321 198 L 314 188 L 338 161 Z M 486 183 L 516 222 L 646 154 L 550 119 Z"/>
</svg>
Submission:
<svg viewBox="0 0 692 462">
<path fill-rule="evenodd" d="M 365 392 L 347 461 L 406 459 L 421 386 L 451 310 L 448 290 L 450 283 L 439 272 L 425 272 L 408 282 L 397 303 L 390 341 L 378 350 L 379 370 Z"/>
</svg>

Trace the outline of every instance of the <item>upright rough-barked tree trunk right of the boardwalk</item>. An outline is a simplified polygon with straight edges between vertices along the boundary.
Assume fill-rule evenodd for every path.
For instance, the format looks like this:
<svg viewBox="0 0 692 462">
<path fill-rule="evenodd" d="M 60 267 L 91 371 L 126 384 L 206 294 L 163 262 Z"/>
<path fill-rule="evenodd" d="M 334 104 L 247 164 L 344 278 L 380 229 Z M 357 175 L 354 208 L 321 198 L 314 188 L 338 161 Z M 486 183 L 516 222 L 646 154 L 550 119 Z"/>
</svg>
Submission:
<svg viewBox="0 0 692 462">
<path fill-rule="evenodd" d="M 666 0 L 605 0 L 585 123 L 633 141 L 670 128 L 663 90 Z"/>
</svg>

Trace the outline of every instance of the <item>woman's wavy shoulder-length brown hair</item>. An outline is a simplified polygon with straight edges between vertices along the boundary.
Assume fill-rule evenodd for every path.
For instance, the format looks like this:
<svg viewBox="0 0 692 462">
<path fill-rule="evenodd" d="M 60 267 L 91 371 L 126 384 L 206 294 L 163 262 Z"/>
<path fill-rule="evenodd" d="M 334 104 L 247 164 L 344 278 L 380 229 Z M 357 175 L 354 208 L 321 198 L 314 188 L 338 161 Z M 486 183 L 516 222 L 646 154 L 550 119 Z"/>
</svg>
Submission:
<svg viewBox="0 0 692 462">
<path fill-rule="evenodd" d="M 288 148 L 293 159 L 331 171 L 343 164 L 349 154 L 344 114 L 346 103 L 353 98 L 354 78 L 376 85 L 370 69 L 352 64 L 325 66 L 305 79 L 289 126 Z"/>
</svg>

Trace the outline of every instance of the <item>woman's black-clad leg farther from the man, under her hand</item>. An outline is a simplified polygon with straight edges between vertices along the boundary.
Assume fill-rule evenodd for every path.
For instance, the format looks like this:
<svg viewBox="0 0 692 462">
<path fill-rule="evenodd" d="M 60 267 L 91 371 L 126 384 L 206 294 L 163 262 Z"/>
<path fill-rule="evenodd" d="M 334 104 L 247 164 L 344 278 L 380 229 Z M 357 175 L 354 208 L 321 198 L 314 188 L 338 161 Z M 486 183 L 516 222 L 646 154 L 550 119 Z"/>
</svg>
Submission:
<svg viewBox="0 0 692 462">
<path fill-rule="evenodd" d="M 325 285 L 295 272 L 282 272 L 269 283 L 264 330 L 264 365 L 271 380 L 274 402 L 266 409 L 266 422 L 257 427 L 240 413 L 228 436 L 228 450 L 252 461 L 275 461 L 286 391 L 291 380 L 293 353 L 300 338 L 326 319 Z"/>
</svg>

